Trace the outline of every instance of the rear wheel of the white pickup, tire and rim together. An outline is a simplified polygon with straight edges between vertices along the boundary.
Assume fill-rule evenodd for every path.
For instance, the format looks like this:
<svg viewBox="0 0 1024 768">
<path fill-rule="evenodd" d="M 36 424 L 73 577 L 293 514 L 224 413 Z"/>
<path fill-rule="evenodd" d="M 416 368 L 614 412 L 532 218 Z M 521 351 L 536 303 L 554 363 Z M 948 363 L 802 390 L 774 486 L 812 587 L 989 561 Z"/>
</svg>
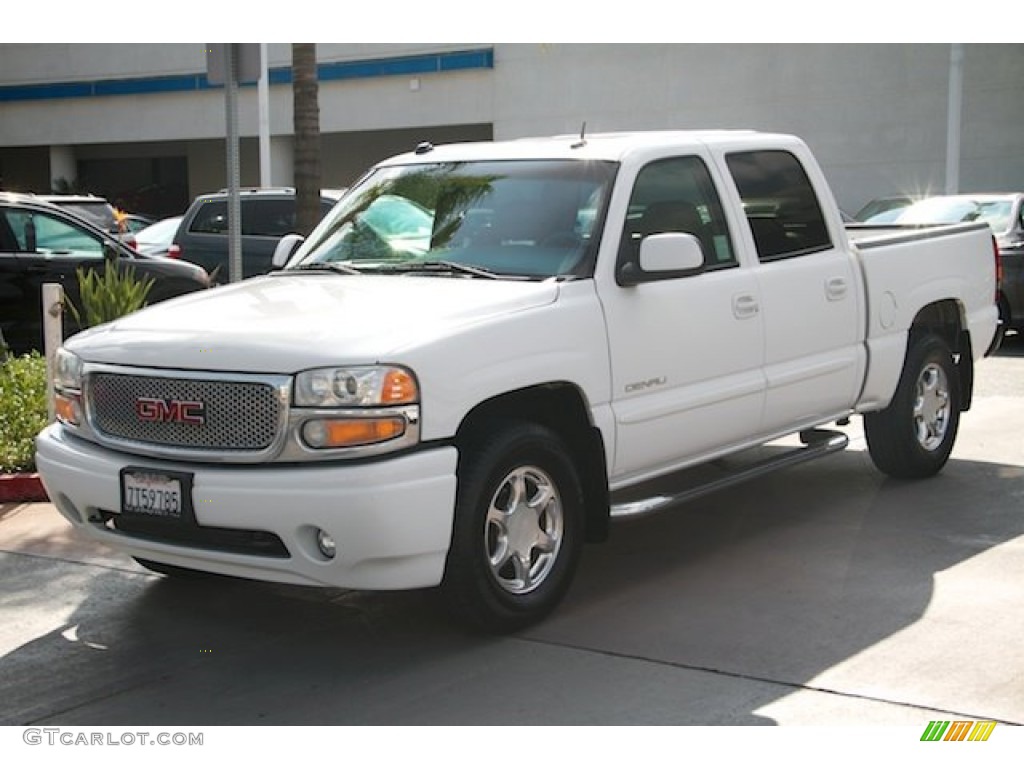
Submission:
<svg viewBox="0 0 1024 768">
<path fill-rule="evenodd" d="M 874 466 L 892 477 L 931 477 L 945 466 L 959 426 L 959 386 L 948 345 L 911 336 L 892 402 L 864 416 Z"/>
</svg>

